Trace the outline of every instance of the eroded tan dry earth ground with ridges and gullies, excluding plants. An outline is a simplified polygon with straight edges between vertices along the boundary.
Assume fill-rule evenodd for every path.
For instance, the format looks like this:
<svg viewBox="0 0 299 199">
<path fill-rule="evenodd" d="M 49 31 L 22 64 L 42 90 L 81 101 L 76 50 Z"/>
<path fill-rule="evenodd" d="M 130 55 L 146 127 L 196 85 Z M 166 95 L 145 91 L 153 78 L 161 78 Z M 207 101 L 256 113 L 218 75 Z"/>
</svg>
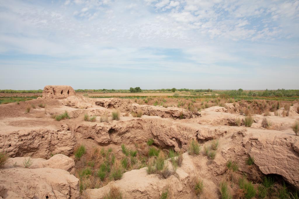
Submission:
<svg viewBox="0 0 299 199">
<path fill-rule="evenodd" d="M 26 114 L 31 104 L 36 108 Z M 39 104 L 47 106 L 40 108 Z M 295 103 L 290 108 L 290 112 L 294 110 L 291 116 L 253 115 L 251 127 L 239 127 L 236 119 L 242 121 L 245 116 L 217 106 L 190 112 L 139 105 L 128 99 L 77 95 L 0 105 L 0 149 L 10 156 L 0 168 L 0 198 L 104 198 L 111 184 L 119 187 L 123 198 L 160 198 L 167 186 L 171 187 L 172 198 L 220 198 L 219 182 L 229 160 L 236 162 L 238 172 L 249 179 L 254 179 L 254 173 L 275 174 L 299 189 L 299 136 L 291 128 L 299 119 L 295 111 L 298 106 Z M 115 109 L 120 111 L 119 121 L 111 119 Z M 131 112 L 138 110 L 143 111 L 142 117 L 132 117 Z M 70 119 L 51 118 L 65 111 Z M 97 116 L 96 121 L 84 121 L 85 114 Z M 105 114 L 109 122 L 100 122 L 100 116 Z M 271 121 L 270 129 L 261 127 L 263 118 Z M 120 180 L 80 192 L 73 155 L 78 145 L 84 144 L 87 151 L 111 146 L 121 153 L 121 144 L 133 149 L 151 138 L 161 149 L 182 153 L 181 166 L 168 178 L 149 175 L 144 166 L 125 172 Z M 219 146 L 215 158 L 208 159 L 203 148 L 213 139 L 219 141 Z M 199 155 L 187 153 L 192 140 L 202 145 Z M 29 157 L 32 164 L 25 168 L 23 162 Z M 245 164 L 248 157 L 254 157 L 254 166 Z M 165 163 L 173 169 L 169 159 Z M 199 196 L 194 192 L 197 178 L 204 184 Z M 236 191 L 234 187 L 229 189 Z"/>
</svg>

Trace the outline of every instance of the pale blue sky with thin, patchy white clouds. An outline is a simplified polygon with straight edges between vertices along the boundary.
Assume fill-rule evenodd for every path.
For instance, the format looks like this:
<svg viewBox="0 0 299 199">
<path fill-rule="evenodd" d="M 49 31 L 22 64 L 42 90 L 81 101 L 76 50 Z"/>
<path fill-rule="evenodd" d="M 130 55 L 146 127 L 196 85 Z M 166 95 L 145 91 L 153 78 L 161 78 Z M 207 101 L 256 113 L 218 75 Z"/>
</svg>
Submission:
<svg viewBox="0 0 299 199">
<path fill-rule="evenodd" d="M 0 0 L 0 89 L 299 89 L 299 1 Z"/>
</svg>

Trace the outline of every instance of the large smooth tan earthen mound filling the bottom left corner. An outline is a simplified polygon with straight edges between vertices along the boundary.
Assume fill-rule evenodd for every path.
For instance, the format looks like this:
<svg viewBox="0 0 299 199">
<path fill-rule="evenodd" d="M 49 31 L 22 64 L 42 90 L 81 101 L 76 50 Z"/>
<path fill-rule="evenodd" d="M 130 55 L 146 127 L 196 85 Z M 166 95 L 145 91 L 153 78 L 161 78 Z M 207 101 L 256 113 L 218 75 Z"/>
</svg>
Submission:
<svg viewBox="0 0 299 199">
<path fill-rule="evenodd" d="M 62 169 L 26 169 L 9 167 L 0 170 L 2 198 L 79 198 L 79 179 Z"/>
</svg>

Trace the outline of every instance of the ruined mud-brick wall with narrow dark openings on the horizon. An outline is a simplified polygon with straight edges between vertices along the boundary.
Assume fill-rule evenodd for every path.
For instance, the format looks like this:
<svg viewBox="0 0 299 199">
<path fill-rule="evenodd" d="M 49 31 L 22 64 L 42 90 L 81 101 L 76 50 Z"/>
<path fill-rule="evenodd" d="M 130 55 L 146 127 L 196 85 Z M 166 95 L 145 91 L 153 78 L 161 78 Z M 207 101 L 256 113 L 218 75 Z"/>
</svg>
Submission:
<svg viewBox="0 0 299 199">
<path fill-rule="evenodd" d="M 62 99 L 68 96 L 76 95 L 74 89 L 70 86 L 45 86 L 42 92 L 42 98 Z"/>
</svg>

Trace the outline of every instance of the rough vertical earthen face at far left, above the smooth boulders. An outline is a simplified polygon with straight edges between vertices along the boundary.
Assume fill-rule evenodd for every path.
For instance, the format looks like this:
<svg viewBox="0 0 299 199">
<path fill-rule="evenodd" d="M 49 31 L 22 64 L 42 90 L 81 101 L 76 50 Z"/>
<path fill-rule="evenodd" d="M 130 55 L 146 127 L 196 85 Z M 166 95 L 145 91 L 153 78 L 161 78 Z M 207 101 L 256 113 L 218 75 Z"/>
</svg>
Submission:
<svg viewBox="0 0 299 199">
<path fill-rule="evenodd" d="M 49 129 L 20 130 L 0 134 L 0 147 L 11 157 L 30 156 L 49 158 L 50 154 L 70 155 L 76 144 L 71 131 Z"/>
</svg>

